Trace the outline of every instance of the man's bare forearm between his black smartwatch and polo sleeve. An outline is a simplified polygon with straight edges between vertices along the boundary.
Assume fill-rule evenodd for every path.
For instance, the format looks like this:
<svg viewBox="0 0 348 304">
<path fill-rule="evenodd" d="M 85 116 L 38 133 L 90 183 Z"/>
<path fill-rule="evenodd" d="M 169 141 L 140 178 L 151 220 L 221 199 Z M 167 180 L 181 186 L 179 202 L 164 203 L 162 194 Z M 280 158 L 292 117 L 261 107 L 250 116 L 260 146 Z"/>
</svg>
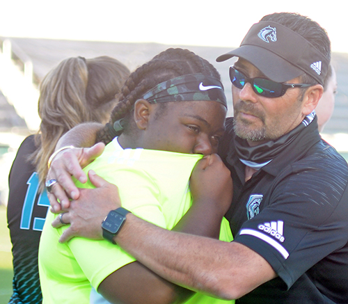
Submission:
<svg viewBox="0 0 348 304">
<path fill-rule="evenodd" d="M 171 232 L 133 214 L 114 241 L 162 278 L 221 298 L 239 298 L 276 277 L 263 257 L 240 243 Z"/>
</svg>

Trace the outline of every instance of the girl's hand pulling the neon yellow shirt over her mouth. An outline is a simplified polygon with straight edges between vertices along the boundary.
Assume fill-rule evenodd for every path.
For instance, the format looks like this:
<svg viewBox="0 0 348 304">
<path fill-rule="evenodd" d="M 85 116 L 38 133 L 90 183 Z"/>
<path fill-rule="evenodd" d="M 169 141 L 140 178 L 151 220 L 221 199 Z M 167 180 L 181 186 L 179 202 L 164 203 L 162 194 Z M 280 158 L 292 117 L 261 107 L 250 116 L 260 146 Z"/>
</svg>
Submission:
<svg viewBox="0 0 348 304">
<path fill-rule="evenodd" d="M 193 204 L 213 204 L 225 215 L 232 202 L 233 184 L 230 170 L 217 154 L 203 157 L 193 169 L 190 179 Z"/>
</svg>

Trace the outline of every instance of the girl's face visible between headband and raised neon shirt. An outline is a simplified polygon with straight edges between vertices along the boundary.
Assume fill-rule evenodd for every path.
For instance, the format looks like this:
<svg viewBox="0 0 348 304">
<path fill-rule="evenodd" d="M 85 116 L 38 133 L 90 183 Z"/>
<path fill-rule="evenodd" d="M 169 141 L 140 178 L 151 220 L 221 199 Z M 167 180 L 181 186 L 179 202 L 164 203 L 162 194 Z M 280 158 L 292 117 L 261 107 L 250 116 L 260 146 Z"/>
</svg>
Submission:
<svg viewBox="0 0 348 304">
<path fill-rule="evenodd" d="M 150 116 L 143 147 L 188 154 L 216 153 L 225 118 L 226 108 L 219 102 L 168 102 L 164 113 Z"/>
</svg>

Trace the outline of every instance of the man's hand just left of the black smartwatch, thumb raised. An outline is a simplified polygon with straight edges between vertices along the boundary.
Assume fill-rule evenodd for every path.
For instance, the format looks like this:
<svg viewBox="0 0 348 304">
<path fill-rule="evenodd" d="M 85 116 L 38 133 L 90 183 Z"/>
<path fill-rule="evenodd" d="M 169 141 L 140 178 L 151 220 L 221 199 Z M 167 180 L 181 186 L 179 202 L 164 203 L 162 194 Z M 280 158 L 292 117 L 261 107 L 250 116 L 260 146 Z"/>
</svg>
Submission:
<svg viewBox="0 0 348 304">
<path fill-rule="evenodd" d="M 95 174 L 93 170 L 88 172 L 90 182 L 96 186 L 95 189 L 79 189 L 78 200 L 72 200 L 62 220 L 70 223 L 59 241 L 64 243 L 72 237 L 85 237 L 87 239 L 102 239 L 102 221 L 109 211 L 120 207 L 118 188 L 114 184 L 106 182 L 105 179 Z M 61 227 L 59 216 L 52 222 L 55 228 Z"/>
</svg>

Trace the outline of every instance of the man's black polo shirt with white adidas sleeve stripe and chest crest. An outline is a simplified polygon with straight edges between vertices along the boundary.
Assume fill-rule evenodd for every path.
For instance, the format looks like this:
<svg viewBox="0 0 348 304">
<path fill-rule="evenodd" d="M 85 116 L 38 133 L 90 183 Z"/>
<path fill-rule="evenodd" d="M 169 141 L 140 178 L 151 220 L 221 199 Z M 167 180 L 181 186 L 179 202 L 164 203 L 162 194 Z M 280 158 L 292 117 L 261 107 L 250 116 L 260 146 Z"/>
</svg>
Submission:
<svg viewBox="0 0 348 304">
<path fill-rule="evenodd" d="M 232 119 L 221 144 L 231 170 L 226 217 L 235 241 L 269 262 L 278 278 L 236 303 L 348 303 L 348 166 L 322 141 L 317 120 L 244 181 Z"/>
</svg>

